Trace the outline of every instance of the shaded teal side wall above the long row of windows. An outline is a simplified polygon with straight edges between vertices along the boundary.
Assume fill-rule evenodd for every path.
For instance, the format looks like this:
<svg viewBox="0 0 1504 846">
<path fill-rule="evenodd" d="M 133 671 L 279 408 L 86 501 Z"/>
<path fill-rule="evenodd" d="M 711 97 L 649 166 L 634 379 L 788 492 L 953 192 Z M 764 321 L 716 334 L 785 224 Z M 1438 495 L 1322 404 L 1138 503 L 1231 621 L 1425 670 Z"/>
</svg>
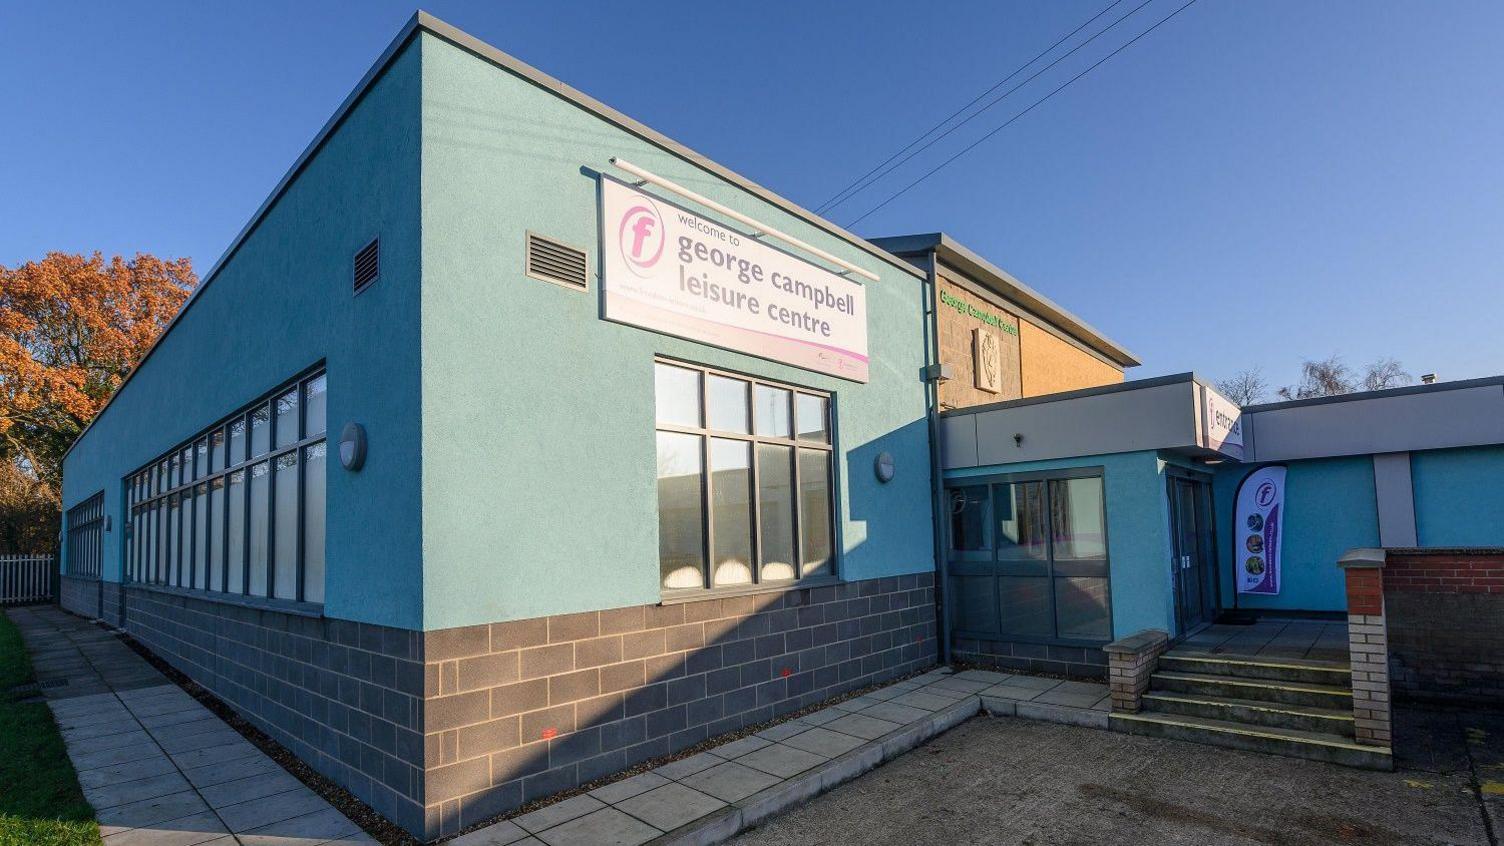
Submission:
<svg viewBox="0 0 1504 846">
<path fill-rule="evenodd" d="M 68 456 L 65 509 L 105 492 L 105 578 L 120 580 L 122 479 L 323 360 L 331 441 L 347 420 L 370 438 L 358 474 L 329 453 L 325 613 L 421 623 L 418 102 L 409 45 Z M 352 298 L 350 257 L 374 235 L 381 280 Z"/>
</svg>

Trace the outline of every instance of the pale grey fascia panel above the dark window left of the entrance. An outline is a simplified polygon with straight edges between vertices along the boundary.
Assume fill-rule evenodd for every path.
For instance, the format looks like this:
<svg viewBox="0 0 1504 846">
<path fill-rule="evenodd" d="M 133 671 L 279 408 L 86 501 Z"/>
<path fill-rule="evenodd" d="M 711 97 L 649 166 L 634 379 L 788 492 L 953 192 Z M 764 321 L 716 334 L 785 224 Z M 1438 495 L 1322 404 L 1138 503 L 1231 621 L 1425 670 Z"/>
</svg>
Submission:
<svg viewBox="0 0 1504 846">
<path fill-rule="evenodd" d="M 981 465 L 1196 447 L 1196 382 L 996 408 L 976 418 Z M 1014 435 L 1023 435 L 1015 443 Z"/>
</svg>

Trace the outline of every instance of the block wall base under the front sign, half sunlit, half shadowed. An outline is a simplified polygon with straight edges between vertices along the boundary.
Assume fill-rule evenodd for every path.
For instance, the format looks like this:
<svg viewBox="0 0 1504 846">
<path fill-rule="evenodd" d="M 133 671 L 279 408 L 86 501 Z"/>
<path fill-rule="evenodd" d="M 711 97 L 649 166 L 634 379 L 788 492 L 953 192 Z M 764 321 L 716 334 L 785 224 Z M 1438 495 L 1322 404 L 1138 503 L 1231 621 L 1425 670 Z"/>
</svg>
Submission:
<svg viewBox="0 0 1504 846">
<path fill-rule="evenodd" d="M 934 626 L 920 574 L 427 632 L 426 834 L 928 667 Z"/>
</svg>

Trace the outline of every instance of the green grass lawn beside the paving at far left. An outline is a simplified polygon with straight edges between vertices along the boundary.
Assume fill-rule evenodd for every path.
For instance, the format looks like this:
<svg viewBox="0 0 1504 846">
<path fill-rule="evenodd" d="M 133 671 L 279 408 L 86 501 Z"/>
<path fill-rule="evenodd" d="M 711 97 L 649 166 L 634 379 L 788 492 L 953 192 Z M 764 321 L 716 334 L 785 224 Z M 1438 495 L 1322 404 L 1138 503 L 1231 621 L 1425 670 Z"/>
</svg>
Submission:
<svg viewBox="0 0 1504 846">
<path fill-rule="evenodd" d="M 99 843 L 51 709 L 6 692 L 30 680 L 21 632 L 0 614 L 0 846 Z"/>
</svg>

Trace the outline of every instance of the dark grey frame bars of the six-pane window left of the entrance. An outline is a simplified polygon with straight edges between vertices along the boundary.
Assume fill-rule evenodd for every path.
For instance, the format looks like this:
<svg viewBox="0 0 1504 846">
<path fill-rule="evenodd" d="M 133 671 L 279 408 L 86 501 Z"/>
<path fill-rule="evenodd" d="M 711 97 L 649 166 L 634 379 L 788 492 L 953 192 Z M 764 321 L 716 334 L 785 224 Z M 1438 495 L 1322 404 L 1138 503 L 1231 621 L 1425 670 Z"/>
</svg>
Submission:
<svg viewBox="0 0 1504 846">
<path fill-rule="evenodd" d="M 1096 480 L 1101 482 L 1101 486 L 1102 486 L 1102 506 L 1101 506 L 1101 519 L 1102 519 L 1102 558 L 1101 558 L 1101 566 L 1102 566 L 1104 574 L 1101 577 L 1093 577 L 1093 578 L 1102 578 L 1104 584 L 1107 587 L 1107 637 L 1104 640 L 1083 640 L 1083 638 L 1066 638 L 1066 637 L 1054 637 L 1054 635 L 1044 637 L 1044 635 L 1029 635 L 1029 634 L 1009 634 L 1009 632 L 1005 632 L 1003 631 L 1003 620 L 1002 620 L 1003 608 L 1002 608 L 1002 596 L 1000 596 L 1000 583 L 997 580 L 999 578 L 1006 578 L 1006 577 L 1026 577 L 1029 574 L 1023 574 L 1023 572 L 1017 572 L 1017 571 L 1023 569 L 1024 565 L 1036 565 L 1036 563 L 1035 561 L 1027 561 L 1027 560 L 1008 560 L 1008 558 L 1000 558 L 997 555 L 997 537 L 996 537 L 996 522 L 997 522 L 997 519 L 996 519 L 996 515 L 997 515 L 996 497 L 997 497 L 997 488 L 1003 486 L 1003 485 L 1014 485 L 1014 483 L 1023 483 L 1023 482 L 1039 482 L 1044 486 L 1044 497 L 1045 497 L 1045 500 L 1044 500 L 1044 510 L 1045 510 L 1045 525 L 1044 525 L 1045 558 L 1042 561 L 1038 561 L 1038 563 L 1044 565 L 1045 572 L 1041 574 L 1041 575 L 1042 575 L 1042 578 L 1045 578 L 1048 581 L 1048 590 L 1047 590 L 1047 593 L 1048 593 L 1048 598 L 1050 598 L 1050 626 L 1051 626 L 1053 632 L 1059 632 L 1060 631 L 1060 617 L 1059 617 L 1059 608 L 1057 608 L 1059 602 L 1057 602 L 1057 598 L 1056 598 L 1056 580 L 1059 580 L 1059 578 L 1080 577 L 1081 574 L 1075 572 L 1075 571 L 1078 571 L 1081 568 L 1083 560 L 1080 560 L 1080 558 L 1066 558 L 1066 560 L 1060 561 L 1060 563 L 1063 563 L 1066 566 L 1066 572 L 1060 572 L 1060 569 L 1057 568 L 1056 554 L 1054 554 L 1054 543 L 1056 543 L 1056 540 L 1054 540 L 1054 533 L 1056 533 L 1056 527 L 1054 527 L 1054 486 L 1051 483 L 1053 482 L 1068 482 L 1068 480 L 1072 480 L 1072 479 L 1096 479 Z M 969 638 L 973 638 L 973 640 L 996 640 L 996 641 L 1011 641 L 1011 643 L 1038 643 L 1038 644 L 1051 644 L 1051 646 L 1084 646 L 1084 647 L 1095 647 L 1095 646 L 1101 646 L 1104 643 L 1111 643 L 1111 640 L 1113 640 L 1113 623 L 1114 623 L 1114 620 L 1113 620 L 1113 568 L 1111 568 L 1113 555 L 1111 555 L 1111 537 L 1108 534 L 1108 525 L 1107 525 L 1107 468 L 1102 467 L 1102 465 L 1089 465 L 1089 467 L 1062 467 L 1062 468 L 1054 468 L 1054 470 L 1033 470 L 1033 471 L 1024 471 L 1024 473 L 990 473 L 990 474 L 978 474 L 978 476 L 955 476 L 955 477 L 949 477 L 949 479 L 945 480 L 943 491 L 945 491 L 945 495 L 946 495 L 946 501 L 949 501 L 951 491 L 954 491 L 957 488 L 972 488 L 972 486 L 985 486 L 987 488 L 987 509 L 985 509 L 987 513 L 985 513 L 985 518 L 982 521 L 984 534 L 985 534 L 985 539 L 987 539 L 987 548 L 985 548 L 985 551 L 957 549 L 955 548 L 955 539 L 952 536 L 952 522 L 949 519 L 946 519 L 945 521 L 945 554 L 946 554 L 946 565 L 948 565 L 948 569 L 949 569 L 949 577 L 952 580 L 955 580 L 958 577 L 960 578 L 967 578 L 967 577 L 972 577 L 972 578 L 975 578 L 975 577 L 991 577 L 991 580 L 993 580 L 993 605 L 994 605 L 994 608 L 997 610 L 997 614 L 999 614 L 999 617 L 997 617 L 997 626 L 999 628 L 997 628 L 997 631 L 987 632 L 987 631 L 981 631 L 981 629 L 966 629 L 966 628 L 961 628 L 958 625 L 954 625 L 952 626 L 954 634 L 958 635 L 958 637 L 969 637 Z M 972 571 L 981 571 L 984 568 L 988 572 L 972 572 Z M 1012 572 L 1009 571 L 1011 568 L 1012 568 Z M 945 587 L 946 587 L 948 592 L 952 590 L 951 584 L 946 584 Z M 955 607 L 957 607 L 957 602 L 952 598 L 952 601 L 946 604 L 946 614 L 951 614 L 952 608 L 955 608 Z M 952 623 L 954 623 L 954 619 L 952 619 Z"/>
</svg>

